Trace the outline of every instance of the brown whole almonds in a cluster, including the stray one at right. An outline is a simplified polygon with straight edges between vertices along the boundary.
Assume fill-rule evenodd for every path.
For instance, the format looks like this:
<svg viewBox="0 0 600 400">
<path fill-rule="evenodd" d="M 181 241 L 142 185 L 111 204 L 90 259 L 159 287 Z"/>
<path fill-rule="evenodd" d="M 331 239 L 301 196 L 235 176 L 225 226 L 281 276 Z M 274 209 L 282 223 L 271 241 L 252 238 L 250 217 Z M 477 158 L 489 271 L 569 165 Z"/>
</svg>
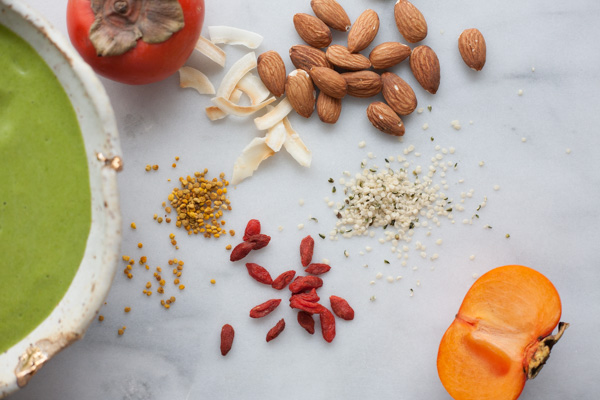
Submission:
<svg viewBox="0 0 600 400">
<path fill-rule="evenodd" d="M 294 15 L 298 35 L 307 44 L 290 48 L 290 58 L 296 70 L 286 74 L 281 56 L 271 50 L 258 58 L 258 74 L 277 97 L 286 95 L 294 110 L 308 118 L 317 110 L 321 121 L 337 122 L 342 99 L 348 95 L 370 98 L 382 93 L 385 102 L 375 101 L 367 107 L 367 117 L 377 129 L 394 136 L 404 135 L 401 116 L 417 107 L 415 92 L 401 77 L 385 71 L 409 58 L 415 79 L 429 93 L 435 94 L 440 84 L 440 63 L 428 46 L 414 49 L 399 42 L 384 42 L 375 46 L 369 56 L 366 49 L 379 31 L 379 16 L 365 10 L 351 24 L 348 14 L 336 0 L 311 0 L 315 14 Z M 417 43 L 427 36 L 423 14 L 408 0 L 398 0 L 394 18 L 402 36 Z M 331 29 L 348 32 L 347 46 L 332 43 Z M 477 29 L 463 32 L 459 50 L 465 63 L 481 70 L 485 63 L 485 41 Z M 383 71 L 378 73 L 375 70 Z M 316 90 L 319 89 L 317 96 Z"/>
</svg>

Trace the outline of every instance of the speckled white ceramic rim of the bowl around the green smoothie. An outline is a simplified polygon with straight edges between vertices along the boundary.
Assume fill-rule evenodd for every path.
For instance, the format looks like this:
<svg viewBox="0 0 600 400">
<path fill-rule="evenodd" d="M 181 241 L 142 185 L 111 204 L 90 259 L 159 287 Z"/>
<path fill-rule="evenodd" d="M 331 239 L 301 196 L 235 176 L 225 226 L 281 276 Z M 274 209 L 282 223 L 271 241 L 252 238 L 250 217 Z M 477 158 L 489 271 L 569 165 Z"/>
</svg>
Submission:
<svg viewBox="0 0 600 400">
<path fill-rule="evenodd" d="M 47 360 L 83 337 L 102 306 L 121 242 L 116 174 L 122 161 L 114 113 L 104 87 L 63 35 L 21 0 L 0 0 L 0 24 L 42 56 L 71 100 L 85 143 L 92 199 L 85 253 L 69 289 L 48 318 L 0 354 L 2 398 L 27 384 Z"/>
</svg>

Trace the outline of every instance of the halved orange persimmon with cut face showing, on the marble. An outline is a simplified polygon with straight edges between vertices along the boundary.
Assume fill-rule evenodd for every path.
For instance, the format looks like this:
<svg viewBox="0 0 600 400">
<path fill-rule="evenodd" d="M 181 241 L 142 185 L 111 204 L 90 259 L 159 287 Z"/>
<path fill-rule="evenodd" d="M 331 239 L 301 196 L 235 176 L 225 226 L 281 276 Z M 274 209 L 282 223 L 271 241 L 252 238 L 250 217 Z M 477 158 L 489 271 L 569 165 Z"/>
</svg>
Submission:
<svg viewBox="0 0 600 400">
<path fill-rule="evenodd" d="M 558 292 L 541 273 L 521 265 L 489 271 L 469 289 L 442 338 L 442 384 L 456 400 L 518 398 L 567 328 L 560 316 Z"/>
</svg>

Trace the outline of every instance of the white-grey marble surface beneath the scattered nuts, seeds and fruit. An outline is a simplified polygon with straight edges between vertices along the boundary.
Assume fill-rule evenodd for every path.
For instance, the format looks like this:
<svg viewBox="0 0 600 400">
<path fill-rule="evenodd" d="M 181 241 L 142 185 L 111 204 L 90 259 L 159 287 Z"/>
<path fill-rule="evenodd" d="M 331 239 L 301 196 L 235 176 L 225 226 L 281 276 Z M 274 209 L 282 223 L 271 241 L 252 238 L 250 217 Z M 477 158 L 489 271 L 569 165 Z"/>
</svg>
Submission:
<svg viewBox="0 0 600 400">
<path fill-rule="evenodd" d="M 65 1 L 28 2 L 66 34 Z M 392 1 L 342 4 L 352 20 L 366 8 L 379 13 L 377 43 L 402 41 Z M 562 319 L 571 323 L 550 362 L 526 385 L 521 398 L 595 398 L 600 391 L 600 350 L 592 336 L 600 328 L 596 254 L 600 3 L 415 4 L 427 18 L 429 35 L 424 43 L 440 58 L 442 83 L 438 94 L 429 95 L 413 79 L 406 62 L 392 69 L 413 86 L 419 107 L 425 108 L 422 114 L 405 118 L 403 140 L 370 126 L 364 116 L 365 100 L 345 99 L 335 126 L 325 126 L 316 115 L 309 120 L 292 115 L 293 126 L 312 150 L 312 166 L 302 168 L 282 152 L 252 178 L 232 187 L 233 210 L 226 220 L 238 232 L 233 239 L 185 237 L 173 226 L 158 225 L 152 215 L 161 213 L 161 202 L 172 188 L 167 179 L 175 181 L 204 168 L 209 175 L 223 171 L 231 176 L 240 151 L 261 132 L 250 120 L 239 118 L 210 123 L 203 112 L 210 97 L 180 89 L 177 76 L 141 87 L 103 80 L 115 108 L 126 165 L 119 177 L 122 253 L 146 255 L 152 268 L 165 270 L 168 259 L 184 260 L 186 289 L 178 292 L 168 283 L 167 292 L 177 301 L 167 311 L 157 295 L 142 294 L 145 282 L 152 280 L 150 272 L 136 270 L 132 280 L 118 273 L 100 311 L 104 322 L 94 321 L 83 340 L 52 359 L 25 389 L 9 398 L 448 399 L 435 366 L 439 340 L 474 276 L 513 263 L 535 268 L 553 281 L 563 303 Z M 293 29 L 293 14 L 311 12 L 308 0 L 207 0 L 206 6 L 205 26 L 256 31 L 265 37 L 257 54 L 274 49 L 284 56 L 291 45 L 301 42 Z M 458 35 L 469 27 L 479 28 L 488 45 L 487 64 L 480 73 L 465 67 L 456 48 Z M 344 43 L 344 35 L 335 34 L 334 40 Z M 247 51 L 224 49 L 227 67 Z M 224 74 L 201 55 L 194 55 L 189 64 L 205 71 L 215 84 Z M 453 120 L 460 121 L 460 130 L 451 127 Z M 422 129 L 425 123 L 427 130 Z M 366 146 L 359 148 L 363 140 Z M 375 158 L 370 161 L 381 166 L 385 157 L 403 155 L 410 145 L 421 154 L 412 153 L 411 162 L 423 169 L 441 153 L 435 146 L 456 149 L 444 156 L 444 162 L 458 163 L 457 169 L 450 168 L 445 178 L 436 177 L 438 182 L 447 181 L 446 192 L 455 204 L 461 192 L 473 189 L 473 196 L 465 198 L 465 211 L 455 213 L 456 222 L 443 220 L 431 229 L 431 236 L 425 235 L 427 228 L 416 230 L 408 244 L 407 266 L 392 254 L 391 244 L 378 242 L 381 230 L 374 238 L 319 239 L 318 234 L 329 232 L 336 222 L 323 199 L 343 200 L 341 190 L 331 193 L 328 178 L 334 178 L 339 189 L 343 171 L 358 172 L 367 153 L 372 152 Z M 180 161 L 173 169 L 176 156 Z M 146 173 L 146 164 L 159 164 L 160 169 Z M 487 206 L 478 212 L 479 218 L 463 224 L 484 197 Z M 225 245 L 240 240 L 250 218 L 259 218 L 273 239 L 249 261 L 267 266 L 273 274 L 299 269 L 301 238 L 311 234 L 317 239 L 315 258 L 327 258 L 333 266 L 324 276 L 321 297 L 340 295 L 356 311 L 354 321 L 338 322 L 333 343 L 325 343 L 319 334 L 310 336 L 297 325 L 285 291 L 261 286 L 248 277 L 243 265 L 228 261 Z M 137 230 L 129 228 L 131 222 L 136 222 Z M 298 224 L 304 229 L 299 230 Z M 177 235 L 179 250 L 169 243 L 171 232 Z M 443 239 L 441 245 L 435 244 L 438 238 Z M 415 250 L 416 241 L 426 245 L 426 258 Z M 137 248 L 138 242 L 143 249 Z M 349 257 L 344 257 L 344 250 Z M 430 260 L 433 253 L 439 259 Z M 380 272 L 383 278 L 377 279 Z M 388 283 L 388 276 L 403 278 Z M 211 279 L 216 284 L 211 285 Z M 284 299 L 275 313 L 261 320 L 248 318 L 252 306 L 275 296 Z M 125 314 L 124 307 L 131 307 L 131 312 Z M 266 343 L 266 332 L 280 318 L 285 318 L 286 330 Z M 227 357 L 219 352 L 224 323 L 236 329 Z M 123 325 L 126 332 L 118 336 Z"/>
</svg>

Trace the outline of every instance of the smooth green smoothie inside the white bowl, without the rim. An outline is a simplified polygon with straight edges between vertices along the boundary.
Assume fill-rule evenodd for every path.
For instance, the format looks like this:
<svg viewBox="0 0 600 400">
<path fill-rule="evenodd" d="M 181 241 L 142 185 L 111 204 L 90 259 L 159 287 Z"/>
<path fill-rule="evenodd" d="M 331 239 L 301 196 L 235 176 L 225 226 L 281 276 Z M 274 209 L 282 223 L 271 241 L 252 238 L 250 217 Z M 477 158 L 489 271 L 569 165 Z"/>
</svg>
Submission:
<svg viewBox="0 0 600 400">
<path fill-rule="evenodd" d="M 83 138 L 60 82 L 0 25 L 0 352 L 66 293 L 91 225 Z"/>
</svg>

